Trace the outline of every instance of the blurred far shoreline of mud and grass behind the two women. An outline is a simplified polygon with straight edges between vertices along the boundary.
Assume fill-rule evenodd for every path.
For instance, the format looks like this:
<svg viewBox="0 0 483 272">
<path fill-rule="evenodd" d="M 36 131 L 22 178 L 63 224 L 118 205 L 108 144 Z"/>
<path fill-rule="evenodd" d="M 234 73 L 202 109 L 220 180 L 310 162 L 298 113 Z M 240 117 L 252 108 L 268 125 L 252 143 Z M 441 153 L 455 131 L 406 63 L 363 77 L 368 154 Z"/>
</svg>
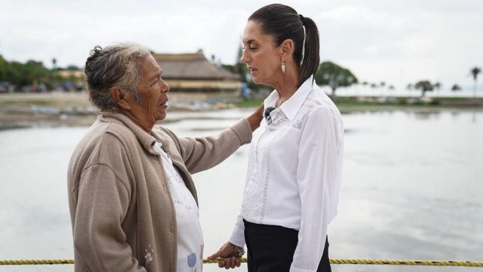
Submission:
<svg viewBox="0 0 483 272">
<path fill-rule="evenodd" d="M 385 99 L 385 100 L 382 100 Z M 414 98 L 412 98 L 414 99 Z M 236 101 L 238 100 L 238 101 Z M 263 101 L 239 101 L 233 103 L 202 101 L 196 98 L 170 95 L 169 112 L 209 112 L 232 108 L 255 108 Z M 482 111 L 482 98 L 434 98 L 416 100 L 408 104 L 407 100 L 381 97 L 336 97 L 334 99 L 342 114 L 358 112 L 420 112 L 438 111 Z M 0 131 L 8 129 L 59 126 L 90 126 L 94 123 L 98 111 L 85 93 L 47 93 L 0 95 Z M 179 117 L 163 122 L 177 122 Z"/>
</svg>

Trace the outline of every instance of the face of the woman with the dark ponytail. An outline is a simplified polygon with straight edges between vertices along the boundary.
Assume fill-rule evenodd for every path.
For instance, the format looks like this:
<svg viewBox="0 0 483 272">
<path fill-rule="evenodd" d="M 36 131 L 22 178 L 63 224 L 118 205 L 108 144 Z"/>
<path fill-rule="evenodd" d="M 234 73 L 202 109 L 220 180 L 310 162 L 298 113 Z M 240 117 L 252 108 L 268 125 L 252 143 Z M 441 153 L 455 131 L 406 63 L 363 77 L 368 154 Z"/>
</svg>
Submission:
<svg viewBox="0 0 483 272">
<path fill-rule="evenodd" d="M 255 21 L 248 21 L 243 33 L 241 62 L 247 64 L 253 82 L 273 86 L 281 76 L 281 50 L 275 46 L 273 37 L 262 34 Z"/>
</svg>

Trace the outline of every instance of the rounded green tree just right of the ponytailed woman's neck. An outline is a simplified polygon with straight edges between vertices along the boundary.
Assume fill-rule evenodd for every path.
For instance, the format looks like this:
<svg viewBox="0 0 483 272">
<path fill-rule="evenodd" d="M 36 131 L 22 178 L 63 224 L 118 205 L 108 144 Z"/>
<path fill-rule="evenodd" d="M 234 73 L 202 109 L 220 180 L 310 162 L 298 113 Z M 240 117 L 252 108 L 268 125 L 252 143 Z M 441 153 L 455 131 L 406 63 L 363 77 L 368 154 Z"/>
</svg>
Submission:
<svg viewBox="0 0 483 272">
<path fill-rule="evenodd" d="M 336 94 L 339 87 L 349 87 L 357 83 L 357 78 L 349 69 L 341 67 L 334 62 L 325 61 L 320 63 L 315 81 L 320 85 L 327 85 L 332 89 L 332 95 Z"/>
</svg>

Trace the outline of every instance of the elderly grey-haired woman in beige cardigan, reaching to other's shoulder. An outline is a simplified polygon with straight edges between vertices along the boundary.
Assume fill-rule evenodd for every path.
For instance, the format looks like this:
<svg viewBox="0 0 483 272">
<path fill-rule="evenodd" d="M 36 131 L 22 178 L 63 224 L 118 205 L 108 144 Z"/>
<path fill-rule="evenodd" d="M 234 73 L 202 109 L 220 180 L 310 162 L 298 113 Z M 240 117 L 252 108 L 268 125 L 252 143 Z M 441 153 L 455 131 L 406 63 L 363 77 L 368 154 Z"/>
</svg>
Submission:
<svg viewBox="0 0 483 272">
<path fill-rule="evenodd" d="M 178 138 L 155 125 L 166 118 L 170 87 L 147 48 L 96 47 L 85 73 L 101 114 L 68 168 L 75 271 L 201 271 L 191 175 L 249 143 L 261 107 L 214 137 Z"/>
</svg>

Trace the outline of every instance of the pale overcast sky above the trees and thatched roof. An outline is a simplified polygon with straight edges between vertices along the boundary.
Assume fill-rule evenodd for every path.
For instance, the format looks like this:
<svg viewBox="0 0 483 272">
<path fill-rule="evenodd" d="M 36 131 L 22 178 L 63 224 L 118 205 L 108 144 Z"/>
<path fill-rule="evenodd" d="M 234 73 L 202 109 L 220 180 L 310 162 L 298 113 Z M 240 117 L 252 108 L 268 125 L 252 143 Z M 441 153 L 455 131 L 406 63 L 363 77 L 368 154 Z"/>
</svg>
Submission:
<svg viewBox="0 0 483 272">
<path fill-rule="evenodd" d="M 269 1 L 1 0 L 0 54 L 52 66 L 83 66 L 96 44 L 138 42 L 156 53 L 203 49 L 233 64 L 247 18 Z M 483 66 L 483 0 L 286 1 L 320 32 L 320 59 L 359 81 L 428 79 L 471 86 Z M 479 77 L 483 81 L 483 76 Z"/>
</svg>

